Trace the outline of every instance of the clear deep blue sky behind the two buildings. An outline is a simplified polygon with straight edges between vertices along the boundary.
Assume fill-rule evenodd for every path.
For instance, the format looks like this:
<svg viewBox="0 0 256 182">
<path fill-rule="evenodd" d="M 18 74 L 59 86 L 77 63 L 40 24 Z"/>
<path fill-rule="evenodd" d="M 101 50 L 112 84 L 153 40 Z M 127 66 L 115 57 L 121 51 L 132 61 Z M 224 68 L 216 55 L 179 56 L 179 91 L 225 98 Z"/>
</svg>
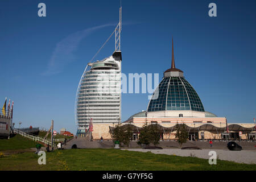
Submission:
<svg viewBox="0 0 256 182">
<path fill-rule="evenodd" d="M 46 17 L 38 4 L 46 3 Z M 208 5 L 217 5 L 217 17 Z M 176 68 L 204 108 L 230 123 L 256 116 L 256 2 L 123 0 L 122 72 Z M 14 100 L 14 122 L 76 133 L 75 96 L 88 61 L 114 30 L 119 1 L 0 1 L 0 103 Z M 114 51 L 114 39 L 98 54 Z M 122 94 L 122 121 L 146 110 L 147 94 Z M 2 107 L 2 106 L 1 106 Z"/>
</svg>

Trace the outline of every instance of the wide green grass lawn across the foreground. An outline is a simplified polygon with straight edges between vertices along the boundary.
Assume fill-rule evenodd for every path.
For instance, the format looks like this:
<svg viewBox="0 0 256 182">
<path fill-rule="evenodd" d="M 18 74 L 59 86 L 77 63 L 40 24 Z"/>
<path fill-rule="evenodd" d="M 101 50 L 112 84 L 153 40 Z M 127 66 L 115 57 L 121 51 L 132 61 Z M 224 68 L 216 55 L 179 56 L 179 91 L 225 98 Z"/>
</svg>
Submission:
<svg viewBox="0 0 256 182">
<path fill-rule="evenodd" d="M 33 152 L 0 158 L 0 170 L 256 170 L 255 164 L 152 154 L 116 149 L 72 149 L 46 152 L 46 165 Z"/>
</svg>

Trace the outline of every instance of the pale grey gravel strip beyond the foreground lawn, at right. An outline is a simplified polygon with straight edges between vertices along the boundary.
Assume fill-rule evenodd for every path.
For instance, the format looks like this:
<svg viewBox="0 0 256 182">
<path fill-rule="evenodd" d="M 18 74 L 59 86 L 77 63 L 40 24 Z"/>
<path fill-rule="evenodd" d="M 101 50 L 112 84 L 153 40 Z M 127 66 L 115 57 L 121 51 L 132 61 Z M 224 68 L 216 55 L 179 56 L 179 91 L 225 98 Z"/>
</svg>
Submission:
<svg viewBox="0 0 256 182">
<path fill-rule="evenodd" d="M 210 156 L 208 149 L 203 150 L 181 150 L 181 149 L 162 149 L 162 150 L 149 150 L 149 149 L 127 149 L 130 151 L 139 152 L 152 152 L 154 154 L 167 154 L 178 156 L 195 156 L 197 158 L 209 159 Z M 242 151 L 230 151 L 230 150 L 214 150 L 217 153 L 217 158 L 220 160 L 229 160 L 237 163 L 256 164 L 256 151 L 254 150 L 242 150 Z"/>
</svg>

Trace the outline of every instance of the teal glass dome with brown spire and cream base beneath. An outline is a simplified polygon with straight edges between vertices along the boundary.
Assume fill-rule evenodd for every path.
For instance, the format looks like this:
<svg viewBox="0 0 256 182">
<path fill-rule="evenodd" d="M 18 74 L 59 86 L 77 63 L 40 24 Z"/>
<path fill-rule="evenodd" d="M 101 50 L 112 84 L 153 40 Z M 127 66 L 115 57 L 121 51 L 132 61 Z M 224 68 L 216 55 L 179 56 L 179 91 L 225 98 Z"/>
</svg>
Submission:
<svg viewBox="0 0 256 182">
<path fill-rule="evenodd" d="M 226 122 L 204 110 L 199 95 L 184 78 L 183 71 L 175 67 L 174 43 L 172 41 L 171 68 L 164 72 L 162 81 L 156 88 L 147 110 L 137 113 L 126 122 Z"/>
</svg>

